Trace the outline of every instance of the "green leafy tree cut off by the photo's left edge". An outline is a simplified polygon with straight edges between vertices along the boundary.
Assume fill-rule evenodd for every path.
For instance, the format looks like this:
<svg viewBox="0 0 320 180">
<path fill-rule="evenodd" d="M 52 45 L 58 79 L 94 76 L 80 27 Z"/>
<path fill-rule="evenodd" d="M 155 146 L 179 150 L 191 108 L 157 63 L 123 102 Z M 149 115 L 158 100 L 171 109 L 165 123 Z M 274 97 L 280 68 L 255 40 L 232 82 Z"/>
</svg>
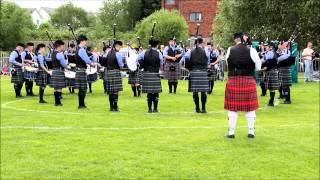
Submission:
<svg viewBox="0 0 320 180">
<path fill-rule="evenodd" d="M 10 50 L 16 43 L 27 40 L 28 33 L 34 25 L 28 10 L 14 3 L 1 2 L 0 9 L 0 49 Z"/>
</svg>

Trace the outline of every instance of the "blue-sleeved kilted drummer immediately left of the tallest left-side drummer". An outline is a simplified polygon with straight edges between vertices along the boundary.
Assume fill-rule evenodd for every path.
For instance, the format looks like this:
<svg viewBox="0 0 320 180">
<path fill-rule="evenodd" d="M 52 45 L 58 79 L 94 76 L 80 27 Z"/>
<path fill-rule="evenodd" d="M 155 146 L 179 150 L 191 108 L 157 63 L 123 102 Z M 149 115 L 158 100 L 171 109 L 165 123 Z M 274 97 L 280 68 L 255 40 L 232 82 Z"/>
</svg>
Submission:
<svg viewBox="0 0 320 180">
<path fill-rule="evenodd" d="M 50 86 L 54 89 L 55 106 L 62 106 L 61 94 L 62 89 L 66 87 L 64 69 L 69 69 L 67 60 L 64 56 L 64 42 L 57 40 L 54 43 L 54 51 L 51 56 L 52 61 L 52 75 L 50 79 Z"/>
</svg>

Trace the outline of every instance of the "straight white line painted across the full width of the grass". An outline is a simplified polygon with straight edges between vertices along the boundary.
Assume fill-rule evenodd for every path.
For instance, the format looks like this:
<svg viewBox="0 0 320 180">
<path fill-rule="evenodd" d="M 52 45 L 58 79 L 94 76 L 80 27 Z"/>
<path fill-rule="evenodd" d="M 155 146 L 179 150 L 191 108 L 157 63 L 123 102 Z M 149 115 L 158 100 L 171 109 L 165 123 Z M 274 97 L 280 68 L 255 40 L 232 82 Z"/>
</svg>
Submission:
<svg viewBox="0 0 320 180">
<path fill-rule="evenodd" d="M 288 125 L 264 125 L 257 126 L 257 128 L 273 127 L 273 128 L 284 128 L 284 127 L 319 127 L 319 124 L 288 124 Z M 238 128 L 246 128 L 247 126 L 238 126 Z M 149 130 L 149 129 L 217 129 L 217 128 L 228 128 L 227 125 L 222 126 L 147 126 L 147 127 L 76 127 L 76 126 L 61 126 L 61 127 L 50 127 L 50 126 L 1 126 L 1 129 L 32 129 L 32 130 Z"/>
</svg>

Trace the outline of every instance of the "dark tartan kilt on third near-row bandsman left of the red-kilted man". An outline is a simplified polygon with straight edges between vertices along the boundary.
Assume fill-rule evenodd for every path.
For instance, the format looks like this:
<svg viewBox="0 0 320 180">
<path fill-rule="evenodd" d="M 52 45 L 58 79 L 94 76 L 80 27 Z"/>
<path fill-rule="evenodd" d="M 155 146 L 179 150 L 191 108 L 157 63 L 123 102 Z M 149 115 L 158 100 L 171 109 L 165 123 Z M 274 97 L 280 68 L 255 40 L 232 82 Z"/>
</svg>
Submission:
<svg viewBox="0 0 320 180">
<path fill-rule="evenodd" d="M 122 78 L 121 78 L 120 71 L 118 69 L 105 70 L 104 77 L 105 77 L 104 80 L 106 82 L 108 94 L 117 93 L 123 90 Z"/>
</svg>

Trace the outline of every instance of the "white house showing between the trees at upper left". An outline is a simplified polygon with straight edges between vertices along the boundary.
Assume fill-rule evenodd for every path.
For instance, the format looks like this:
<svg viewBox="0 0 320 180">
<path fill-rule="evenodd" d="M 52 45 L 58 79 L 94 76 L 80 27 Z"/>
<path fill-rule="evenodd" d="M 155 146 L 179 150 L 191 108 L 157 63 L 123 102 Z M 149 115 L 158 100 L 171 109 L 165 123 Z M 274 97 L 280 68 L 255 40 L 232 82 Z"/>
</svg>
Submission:
<svg viewBox="0 0 320 180">
<path fill-rule="evenodd" d="M 54 11 L 53 8 L 41 7 L 40 9 L 30 8 L 30 14 L 33 23 L 39 27 L 40 24 L 50 20 L 50 14 Z"/>
</svg>

